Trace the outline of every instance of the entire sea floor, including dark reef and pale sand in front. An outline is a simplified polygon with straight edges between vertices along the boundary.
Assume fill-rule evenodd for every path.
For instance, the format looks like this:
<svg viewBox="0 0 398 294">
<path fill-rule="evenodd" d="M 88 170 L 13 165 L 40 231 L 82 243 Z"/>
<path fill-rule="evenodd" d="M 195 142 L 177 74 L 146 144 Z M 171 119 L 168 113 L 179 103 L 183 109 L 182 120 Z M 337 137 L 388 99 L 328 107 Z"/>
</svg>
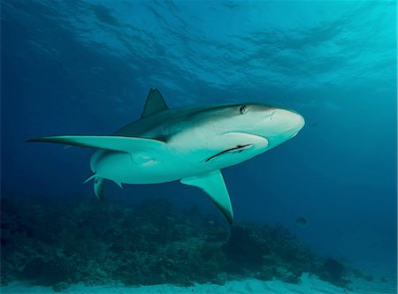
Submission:
<svg viewBox="0 0 398 294">
<path fill-rule="evenodd" d="M 14 195 L 1 207 L 4 294 L 397 293 L 390 262 L 354 268 L 312 253 L 282 225 L 229 226 L 167 200 Z"/>
</svg>

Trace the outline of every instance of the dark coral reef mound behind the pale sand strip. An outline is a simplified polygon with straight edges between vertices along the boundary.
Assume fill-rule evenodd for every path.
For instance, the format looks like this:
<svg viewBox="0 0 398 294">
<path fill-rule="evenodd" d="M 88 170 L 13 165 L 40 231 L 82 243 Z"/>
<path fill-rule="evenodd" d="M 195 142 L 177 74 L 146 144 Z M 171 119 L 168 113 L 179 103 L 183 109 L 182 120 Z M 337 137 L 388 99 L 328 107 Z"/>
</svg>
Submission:
<svg viewBox="0 0 398 294">
<path fill-rule="evenodd" d="M 167 200 L 84 199 L 3 196 L 3 284 L 19 279 L 61 291 L 71 283 L 223 284 L 248 276 L 298 283 L 303 272 L 345 281 L 338 261 L 315 257 L 280 225 L 230 227 L 220 215 Z"/>
</svg>

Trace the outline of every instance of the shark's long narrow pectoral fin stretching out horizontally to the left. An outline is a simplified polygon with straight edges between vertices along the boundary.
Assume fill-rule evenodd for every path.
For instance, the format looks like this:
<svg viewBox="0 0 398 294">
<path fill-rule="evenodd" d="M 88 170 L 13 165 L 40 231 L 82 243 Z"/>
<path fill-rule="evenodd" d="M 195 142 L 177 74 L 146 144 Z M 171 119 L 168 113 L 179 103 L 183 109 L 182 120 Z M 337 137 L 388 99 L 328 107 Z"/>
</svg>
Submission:
<svg viewBox="0 0 398 294">
<path fill-rule="evenodd" d="M 28 139 L 27 142 L 50 142 L 80 147 L 91 147 L 131 153 L 137 150 L 156 150 L 164 142 L 157 139 L 145 139 L 122 136 L 53 136 Z"/>
</svg>

